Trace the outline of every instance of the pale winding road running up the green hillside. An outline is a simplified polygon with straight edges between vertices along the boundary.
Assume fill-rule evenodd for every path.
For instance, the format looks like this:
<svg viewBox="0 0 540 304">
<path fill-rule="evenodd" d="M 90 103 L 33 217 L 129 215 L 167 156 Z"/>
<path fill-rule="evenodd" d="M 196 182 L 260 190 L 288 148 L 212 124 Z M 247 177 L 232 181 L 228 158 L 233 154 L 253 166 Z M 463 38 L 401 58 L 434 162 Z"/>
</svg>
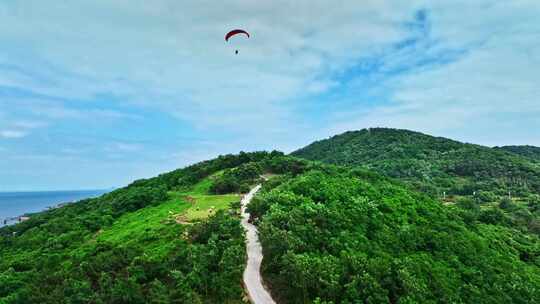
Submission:
<svg viewBox="0 0 540 304">
<path fill-rule="evenodd" d="M 276 302 L 270 296 L 270 293 L 264 288 L 261 277 L 262 247 L 257 235 L 257 227 L 250 224 L 249 213 L 246 207 L 261 185 L 251 189 L 248 194 L 242 198 L 242 226 L 246 229 L 246 249 L 248 261 L 244 270 L 244 285 L 246 286 L 249 298 L 254 304 L 275 304 Z"/>
</svg>

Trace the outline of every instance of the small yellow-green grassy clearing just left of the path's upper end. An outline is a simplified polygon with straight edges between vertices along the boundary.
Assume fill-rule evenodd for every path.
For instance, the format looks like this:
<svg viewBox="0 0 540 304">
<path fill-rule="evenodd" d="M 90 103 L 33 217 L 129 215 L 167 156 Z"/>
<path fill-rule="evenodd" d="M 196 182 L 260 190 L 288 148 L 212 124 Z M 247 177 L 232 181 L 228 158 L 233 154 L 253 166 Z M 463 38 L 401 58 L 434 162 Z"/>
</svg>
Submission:
<svg viewBox="0 0 540 304">
<path fill-rule="evenodd" d="M 205 219 L 218 210 L 229 208 L 229 204 L 240 200 L 238 194 L 192 195 L 194 202 L 186 212 L 188 221 Z"/>
</svg>

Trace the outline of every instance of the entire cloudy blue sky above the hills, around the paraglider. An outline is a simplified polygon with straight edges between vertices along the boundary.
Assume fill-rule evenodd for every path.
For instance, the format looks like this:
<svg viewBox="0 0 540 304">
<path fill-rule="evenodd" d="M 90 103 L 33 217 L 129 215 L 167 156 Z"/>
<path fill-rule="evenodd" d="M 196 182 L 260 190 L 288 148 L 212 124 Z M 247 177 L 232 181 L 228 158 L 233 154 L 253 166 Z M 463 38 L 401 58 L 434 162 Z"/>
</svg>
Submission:
<svg viewBox="0 0 540 304">
<path fill-rule="evenodd" d="M 540 146 L 538 16 L 537 0 L 0 1 L 0 191 L 377 126 Z M 233 28 L 251 38 L 225 43 Z"/>
</svg>

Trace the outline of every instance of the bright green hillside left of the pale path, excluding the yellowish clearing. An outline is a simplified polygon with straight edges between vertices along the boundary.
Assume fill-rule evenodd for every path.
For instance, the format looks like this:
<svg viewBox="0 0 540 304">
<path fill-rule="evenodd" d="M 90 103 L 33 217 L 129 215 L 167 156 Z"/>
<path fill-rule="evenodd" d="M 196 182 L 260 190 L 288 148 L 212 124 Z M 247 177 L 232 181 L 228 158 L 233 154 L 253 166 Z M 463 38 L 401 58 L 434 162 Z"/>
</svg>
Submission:
<svg viewBox="0 0 540 304">
<path fill-rule="evenodd" d="M 220 156 L 4 227 L 0 303 L 242 302 L 239 203 L 194 223 L 175 216 L 196 195 L 303 163 L 279 152 Z"/>
</svg>

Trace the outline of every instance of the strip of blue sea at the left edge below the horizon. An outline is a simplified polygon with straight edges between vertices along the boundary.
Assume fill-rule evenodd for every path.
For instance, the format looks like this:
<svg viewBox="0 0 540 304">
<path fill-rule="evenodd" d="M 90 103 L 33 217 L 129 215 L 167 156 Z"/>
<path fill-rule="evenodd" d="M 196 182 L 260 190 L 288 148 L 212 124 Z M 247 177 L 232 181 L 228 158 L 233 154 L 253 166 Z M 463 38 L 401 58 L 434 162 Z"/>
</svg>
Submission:
<svg viewBox="0 0 540 304">
<path fill-rule="evenodd" d="M 20 216 L 56 207 L 59 204 L 98 197 L 110 190 L 0 192 L 0 227 L 13 224 Z"/>
</svg>

